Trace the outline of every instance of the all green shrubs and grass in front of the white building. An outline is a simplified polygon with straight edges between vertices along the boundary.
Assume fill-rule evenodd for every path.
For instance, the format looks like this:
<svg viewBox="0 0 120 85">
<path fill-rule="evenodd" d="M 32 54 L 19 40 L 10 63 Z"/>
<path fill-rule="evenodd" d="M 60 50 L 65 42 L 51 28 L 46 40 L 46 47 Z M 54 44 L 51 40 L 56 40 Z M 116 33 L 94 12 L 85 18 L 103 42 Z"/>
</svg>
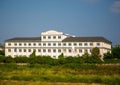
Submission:
<svg viewBox="0 0 120 85">
<path fill-rule="evenodd" d="M 15 84 L 15 81 L 21 81 L 22 84 L 36 82 L 38 85 L 41 82 L 52 82 L 46 83 L 47 85 L 58 84 L 57 82 L 63 82 L 62 85 L 64 82 L 72 83 L 71 85 L 74 83 L 75 85 L 76 83 L 120 85 L 118 49 L 117 52 L 105 54 L 104 62 L 100 60 L 99 52 L 93 53 L 95 54 L 85 53 L 83 56 L 76 57 L 65 57 L 61 54 L 59 59 L 36 56 L 35 51 L 30 57 L 12 58 L 2 55 L 0 56 L 0 84 L 8 84 L 7 81 L 11 82 L 9 84 Z M 114 58 L 113 55 L 117 57 Z M 17 65 L 18 63 L 26 65 Z"/>
</svg>

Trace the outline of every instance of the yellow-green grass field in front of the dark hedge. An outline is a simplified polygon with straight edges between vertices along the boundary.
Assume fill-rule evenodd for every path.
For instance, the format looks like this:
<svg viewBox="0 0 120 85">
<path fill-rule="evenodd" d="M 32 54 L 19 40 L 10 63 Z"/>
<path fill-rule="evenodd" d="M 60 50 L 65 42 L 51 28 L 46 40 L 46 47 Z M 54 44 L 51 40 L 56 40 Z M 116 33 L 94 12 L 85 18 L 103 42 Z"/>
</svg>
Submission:
<svg viewBox="0 0 120 85">
<path fill-rule="evenodd" d="M 19 83 L 17 83 L 19 82 Z M 120 85 L 120 64 L 0 64 L 0 85 Z"/>
</svg>

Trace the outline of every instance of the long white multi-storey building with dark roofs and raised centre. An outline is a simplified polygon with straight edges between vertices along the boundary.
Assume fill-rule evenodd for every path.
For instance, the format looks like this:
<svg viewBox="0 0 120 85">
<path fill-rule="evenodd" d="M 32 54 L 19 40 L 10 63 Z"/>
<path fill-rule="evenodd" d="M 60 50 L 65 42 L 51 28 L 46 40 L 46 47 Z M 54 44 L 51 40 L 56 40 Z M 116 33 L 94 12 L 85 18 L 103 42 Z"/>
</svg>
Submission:
<svg viewBox="0 0 120 85">
<path fill-rule="evenodd" d="M 5 41 L 6 56 L 29 56 L 34 50 L 36 55 L 49 55 L 58 58 L 65 56 L 82 56 L 85 52 L 91 54 L 94 47 L 100 49 L 103 55 L 111 50 L 111 42 L 104 37 L 75 37 L 63 32 L 49 30 L 41 33 L 41 37 L 12 38 Z"/>
</svg>

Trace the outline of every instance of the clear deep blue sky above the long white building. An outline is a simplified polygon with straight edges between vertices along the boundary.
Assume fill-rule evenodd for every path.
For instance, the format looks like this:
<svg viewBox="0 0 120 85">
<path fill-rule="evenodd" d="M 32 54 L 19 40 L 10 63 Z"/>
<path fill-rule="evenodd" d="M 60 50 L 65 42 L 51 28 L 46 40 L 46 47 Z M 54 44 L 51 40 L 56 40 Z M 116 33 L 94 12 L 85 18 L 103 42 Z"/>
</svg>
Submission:
<svg viewBox="0 0 120 85">
<path fill-rule="evenodd" d="M 120 44 L 120 0 L 0 0 L 0 43 L 48 30 Z"/>
</svg>

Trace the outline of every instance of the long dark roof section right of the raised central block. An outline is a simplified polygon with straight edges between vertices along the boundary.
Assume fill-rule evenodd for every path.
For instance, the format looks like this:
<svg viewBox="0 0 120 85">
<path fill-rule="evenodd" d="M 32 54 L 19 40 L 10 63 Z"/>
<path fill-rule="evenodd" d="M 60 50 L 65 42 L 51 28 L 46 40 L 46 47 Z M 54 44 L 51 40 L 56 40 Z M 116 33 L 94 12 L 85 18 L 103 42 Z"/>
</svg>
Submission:
<svg viewBox="0 0 120 85">
<path fill-rule="evenodd" d="M 112 43 L 104 37 L 67 37 L 63 42 L 106 42 Z"/>
</svg>

